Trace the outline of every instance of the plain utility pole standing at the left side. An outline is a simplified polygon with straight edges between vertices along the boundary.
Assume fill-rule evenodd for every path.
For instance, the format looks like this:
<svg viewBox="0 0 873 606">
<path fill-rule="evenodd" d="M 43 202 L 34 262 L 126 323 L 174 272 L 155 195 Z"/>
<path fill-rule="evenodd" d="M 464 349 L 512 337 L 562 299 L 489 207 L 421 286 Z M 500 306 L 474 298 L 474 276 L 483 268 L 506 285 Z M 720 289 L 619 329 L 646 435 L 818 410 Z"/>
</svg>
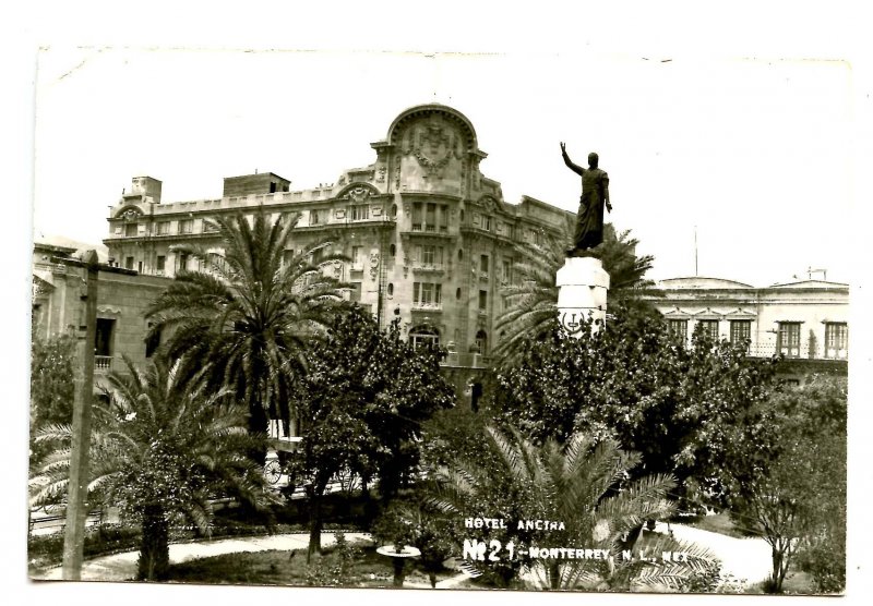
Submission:
<svg viewBox="0 0 873 606">
<path fill-rule="evenodd" d="M 85 343 L 82 353 L 82 375 L 75 380 L 73 400 L 73 440 L 70 448 L 70 482 L 67 487 L 67 525 L 63 534 L 63 580 L 82 578 L 82 556 L 85 547 L 85 519 L 88 492 L 88 455 L 91 446 L 91 399 L 94 390 L 94 342 L 97 332 L 96 251 L 87 251 L 82 260 L 87 272 L 85 299 Z"/>
</svg>

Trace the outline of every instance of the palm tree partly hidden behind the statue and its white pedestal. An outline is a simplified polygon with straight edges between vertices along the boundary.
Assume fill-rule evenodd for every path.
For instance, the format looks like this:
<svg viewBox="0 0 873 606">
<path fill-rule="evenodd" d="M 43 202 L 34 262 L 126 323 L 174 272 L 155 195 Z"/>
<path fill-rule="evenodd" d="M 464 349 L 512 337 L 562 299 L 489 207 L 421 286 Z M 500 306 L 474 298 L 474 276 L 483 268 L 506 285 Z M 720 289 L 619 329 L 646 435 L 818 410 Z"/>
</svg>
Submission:
<svg viewBox="0 0 873 606">
<path fill-rule="evenodd" d="M 636 256 L 639 243 L 630 230 L 617 233 L 607 223 L 603 242 L 595 253 L 610 276 L 609 305 L 619 313 L 651 313 L 654 307 L 641 299 L 643 289 L 654 286 L 644 278 L 655 257 Z M 558 314 L 555 277 L 563 266 L 565 253 L 573 239 L 573 226 L 567 220 L 560 234 L 542 234 L 541 244 L 518 246 L 522 262 L 514 266 L 513 283 L 501 289 L 506 311 L 498 317 L 495 331 L 501 335 L 494 348 L 498 366 L 506 368 L 518 362 L 530 340 L 541 338 L 551 329 Z M 614 313 L 614 312 L 613 312 Z"/>
</svg>

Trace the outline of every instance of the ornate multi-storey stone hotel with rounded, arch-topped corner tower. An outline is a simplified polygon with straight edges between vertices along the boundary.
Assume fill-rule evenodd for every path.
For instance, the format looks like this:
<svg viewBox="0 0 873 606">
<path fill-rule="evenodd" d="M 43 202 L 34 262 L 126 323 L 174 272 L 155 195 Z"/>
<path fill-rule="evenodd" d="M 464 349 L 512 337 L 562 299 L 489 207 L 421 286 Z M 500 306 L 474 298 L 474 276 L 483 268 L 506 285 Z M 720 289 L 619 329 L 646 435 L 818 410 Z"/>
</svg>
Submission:
<svg viewBox="0 0 873 606">
<path fill-rule="evenodd" d="M 206 219 L 260 207 L 297 213 L 299 249 L 334 241 L 351 262 L 330 270 L 356 286 L 350 296 L 382 326 L 399 318 L 408 338 L 447 347 L 449 366 L 485 367 L 500 338 L 493 325 L 515 244 L 554 232 L 569 213 L 527 196 L 506 204 L 500 183 L 479 170 L 487 154 L 473 124 L 446 106 L 402 112 L 371 147 L 374 163 L 310 190 L 262 173 L 226 179 L 218 199 L 167 203 L 159 181 L 136 178 L 110 209 L 109 256 L 120 267 L 171 277 L 186 263 L 174 244 L 219 244 Z M 244 195 L 237 195 L 240 184 Z"/>
</svg>

